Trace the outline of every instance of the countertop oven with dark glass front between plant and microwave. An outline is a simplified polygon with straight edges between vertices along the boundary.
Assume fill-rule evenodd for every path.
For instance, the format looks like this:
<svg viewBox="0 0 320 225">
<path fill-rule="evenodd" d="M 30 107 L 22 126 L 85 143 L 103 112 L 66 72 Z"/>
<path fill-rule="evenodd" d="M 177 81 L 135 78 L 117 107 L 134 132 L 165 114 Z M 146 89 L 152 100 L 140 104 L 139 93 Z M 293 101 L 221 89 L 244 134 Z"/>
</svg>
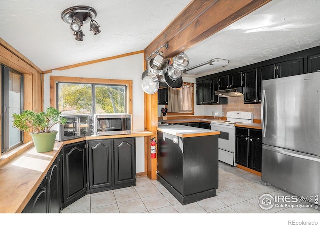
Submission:
<svg viewBox="0 0 320 225">
<path fill-rule="evenodd" d="M 91 135 L 93 115 L 62 115 L 68 121 L 65 125 L 57 124 L 52 130 L 57 130 L 55 140 L 63 141 Z"/>
</svg>

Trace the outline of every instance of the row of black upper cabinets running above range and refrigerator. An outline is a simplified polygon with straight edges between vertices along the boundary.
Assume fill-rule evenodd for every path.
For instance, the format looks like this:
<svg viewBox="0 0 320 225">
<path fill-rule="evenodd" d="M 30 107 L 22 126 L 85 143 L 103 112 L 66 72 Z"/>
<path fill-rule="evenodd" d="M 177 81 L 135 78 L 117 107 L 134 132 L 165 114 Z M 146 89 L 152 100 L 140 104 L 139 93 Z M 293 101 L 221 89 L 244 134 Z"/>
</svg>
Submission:
<svg viewBox="0 0 320 225">
<path fill-rule="evenodd" d="M 203 80 L 212 80 L 211 104 L 222 104 L 221 99 L 227 100 L 227 98 L 216 96 L 214 94 L 215 90 L 225 90 L 241 86 L 243 87 L 244 103 L 261 103 L 263 80 L 317 71 L 320 71 L 320 46 L 199 77 L 196 78 L 196 81 L 202 82 L 200 88 L 203 88 Z M 203 90 L 201 94 L 201 97 L 203 97 Z"/>
</svg>

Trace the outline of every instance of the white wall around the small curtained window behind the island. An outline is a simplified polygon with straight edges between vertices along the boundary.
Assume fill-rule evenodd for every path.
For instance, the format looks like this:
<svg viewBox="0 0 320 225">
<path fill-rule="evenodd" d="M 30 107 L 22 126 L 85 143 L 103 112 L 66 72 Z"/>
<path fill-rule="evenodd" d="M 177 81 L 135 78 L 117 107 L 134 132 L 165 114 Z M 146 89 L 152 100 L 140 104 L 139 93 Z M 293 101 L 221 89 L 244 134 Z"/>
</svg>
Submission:
<svg viewBox="0 0 320 225">
<path fill-rule="evenodd" d="M 214 116 L 222 116 L 222 105 L 197 105 L 196 104 L 196 81 L 195 78 L 183 77 L 183 82 L 194 83 L 194 115 L 207 115 L 212 116 L 212 111 Z M 161 108 L 164 105 L 158 105 L 158 117 L 161 116 Z"/>
</svg>

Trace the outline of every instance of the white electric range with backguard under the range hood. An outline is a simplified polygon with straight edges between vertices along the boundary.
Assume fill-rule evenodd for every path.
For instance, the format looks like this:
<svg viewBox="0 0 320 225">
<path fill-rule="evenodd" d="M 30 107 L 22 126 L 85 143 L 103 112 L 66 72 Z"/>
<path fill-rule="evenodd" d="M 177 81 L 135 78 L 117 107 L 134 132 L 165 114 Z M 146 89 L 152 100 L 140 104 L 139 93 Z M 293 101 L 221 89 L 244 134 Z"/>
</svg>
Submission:
<svg viewBox="0 0 320 225">
<path fill-rule="evenodd" d="M 212 121 L 211 130 L 220 131 L 219 161 L 235 166 L 235 124 L 253 123 L 253 113 L 245 111 L 229 111 L 226 120 Z"/>
</svg>

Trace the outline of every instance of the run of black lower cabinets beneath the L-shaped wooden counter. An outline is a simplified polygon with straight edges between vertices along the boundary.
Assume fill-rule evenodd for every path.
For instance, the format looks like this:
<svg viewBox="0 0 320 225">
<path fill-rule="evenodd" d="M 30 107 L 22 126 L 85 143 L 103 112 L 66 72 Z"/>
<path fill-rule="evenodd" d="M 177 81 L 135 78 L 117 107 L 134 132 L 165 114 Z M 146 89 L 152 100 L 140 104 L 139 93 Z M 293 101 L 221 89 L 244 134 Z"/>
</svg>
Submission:
<svg viewBox="0 0 320 225">
<path fill-rule="evenodd" d="M 135 137 L 65 145 L 22 213 L 60 213 L 87 193 L 136 183 Z"/>
</svg>

